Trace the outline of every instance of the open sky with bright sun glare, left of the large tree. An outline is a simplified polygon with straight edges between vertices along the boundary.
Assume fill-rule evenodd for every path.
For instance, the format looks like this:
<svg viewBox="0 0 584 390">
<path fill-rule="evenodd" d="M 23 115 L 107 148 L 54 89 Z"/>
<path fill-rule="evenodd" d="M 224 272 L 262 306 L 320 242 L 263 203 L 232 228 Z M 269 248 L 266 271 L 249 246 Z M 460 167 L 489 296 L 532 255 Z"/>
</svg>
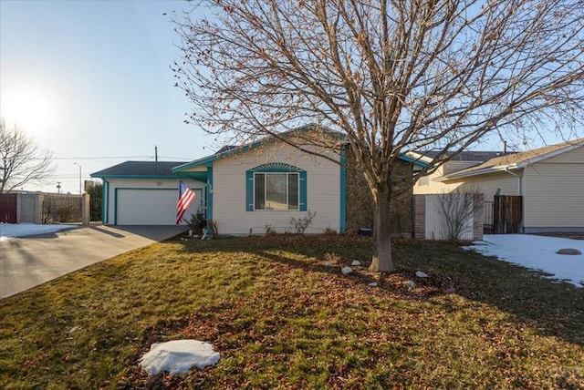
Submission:
<svg viewBox="0 0 584 390">
<path fill-rule="evenodd" d="M 24 190 L 78 193 L 79 176 L 126 160 L 190 161 L 216 147 L 170 66 L 180 43 L 170 21 L 184 1 L 0 0 L 0 117 L 57 171 Z M 166 15 L 163 15 L 166 14 Z M 81 167 L 79 169 L 79 166 Z M 80 170 L 80 175 L 79 175 Z"/>
</svg>

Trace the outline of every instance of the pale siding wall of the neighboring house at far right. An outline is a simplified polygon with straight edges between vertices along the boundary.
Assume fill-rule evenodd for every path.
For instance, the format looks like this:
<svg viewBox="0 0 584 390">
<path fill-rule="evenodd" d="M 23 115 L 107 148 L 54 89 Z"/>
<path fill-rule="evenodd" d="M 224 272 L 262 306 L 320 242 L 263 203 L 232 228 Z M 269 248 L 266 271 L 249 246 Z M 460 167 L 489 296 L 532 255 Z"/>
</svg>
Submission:
<svg viewBox="0 0 584 390">
<path fill-rule="evenodd" d="M 525 232 L 584 231 L 584 147 L 525 171 Z"/>
</svg>

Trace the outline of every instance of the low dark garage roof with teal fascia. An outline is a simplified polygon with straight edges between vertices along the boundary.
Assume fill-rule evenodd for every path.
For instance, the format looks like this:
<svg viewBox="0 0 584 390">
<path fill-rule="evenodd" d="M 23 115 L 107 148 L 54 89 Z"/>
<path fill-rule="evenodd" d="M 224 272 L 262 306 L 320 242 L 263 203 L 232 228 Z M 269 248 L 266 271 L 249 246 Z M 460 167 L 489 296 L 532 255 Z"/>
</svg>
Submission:
<svg viewBox="0 0 584 390">
<path fill-rule="evenodd" d="M 172 168 L 185 161 L 125 161 L 92 173 L 92 178 L 176 178 Z"/>
</svg>

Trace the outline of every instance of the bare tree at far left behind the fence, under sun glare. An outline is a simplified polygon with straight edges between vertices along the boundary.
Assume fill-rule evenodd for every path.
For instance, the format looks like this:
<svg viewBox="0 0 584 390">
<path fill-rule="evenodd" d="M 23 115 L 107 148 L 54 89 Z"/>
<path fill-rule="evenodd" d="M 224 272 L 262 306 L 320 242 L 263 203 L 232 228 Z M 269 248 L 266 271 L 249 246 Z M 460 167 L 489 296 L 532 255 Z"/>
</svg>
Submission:
<svg viewBox="0 0 584 390">
<path fill-rule="evenodd" d="M 0 119 L 0 193 L 47 180 L 54 170 L 52 161 L 52 152 L 38 149 L 22 129 L 15 125 L 9 130 Z"/>
</svg>

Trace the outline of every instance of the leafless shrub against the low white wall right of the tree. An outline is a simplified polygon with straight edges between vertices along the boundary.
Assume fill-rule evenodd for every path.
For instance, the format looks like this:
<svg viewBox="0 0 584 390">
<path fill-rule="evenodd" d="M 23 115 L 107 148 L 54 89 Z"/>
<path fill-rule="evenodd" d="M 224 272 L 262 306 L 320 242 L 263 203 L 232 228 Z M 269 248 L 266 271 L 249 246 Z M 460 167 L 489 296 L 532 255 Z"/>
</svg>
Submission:
<svg viewBox="0 0 584 390">
<path fill-rule="evenodd" d="M 438 211 L 443 216 L 448 240 L 461 240 L 473 231 L 474 216 L 484 207 L 483 192 L 474 186 L 460 186 L 438 195 Z"/>
</svg>

